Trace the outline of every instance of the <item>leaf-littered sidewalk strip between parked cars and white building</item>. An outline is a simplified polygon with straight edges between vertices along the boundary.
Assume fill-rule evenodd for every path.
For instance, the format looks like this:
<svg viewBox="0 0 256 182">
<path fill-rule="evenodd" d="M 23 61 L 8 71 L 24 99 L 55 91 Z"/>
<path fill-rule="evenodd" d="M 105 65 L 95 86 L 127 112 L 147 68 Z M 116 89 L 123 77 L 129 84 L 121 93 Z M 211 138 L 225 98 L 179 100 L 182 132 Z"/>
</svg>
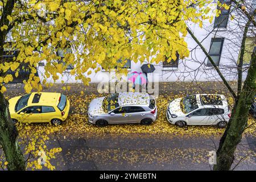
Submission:
<svg viewBox="0 0 256 182">
<path fill-rule="evenodd" d="M 236 91 L 236 82 L 229 82 L 230 86 Z M 24 84 L 6 84 L 7 94 L 25 93 Z M 70 86 L 70 90 L 63 90 L 63 86 Z M 88 86 L 84 84 L 53 84 L 50 88 L 43 86 L 44 92 L 61 93 L 80 93 L 97 94 L 98 83 L 91 83 Z M 110 88 L 110 86 L 109 86 Z M 229 94 L 228 89 L 222 82 L 159 82 L 159 94 L 195 94 L 195 93 L 221 93 Z"/>
</svg>

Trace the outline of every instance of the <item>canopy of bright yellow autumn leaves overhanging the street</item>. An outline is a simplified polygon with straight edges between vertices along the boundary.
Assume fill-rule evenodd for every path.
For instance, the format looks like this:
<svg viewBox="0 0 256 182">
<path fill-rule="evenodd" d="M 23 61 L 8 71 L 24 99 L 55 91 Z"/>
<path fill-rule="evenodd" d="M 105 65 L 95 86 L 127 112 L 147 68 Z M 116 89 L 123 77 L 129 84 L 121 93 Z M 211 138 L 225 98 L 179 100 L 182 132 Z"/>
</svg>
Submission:
<svg viewBox="0 0 256 182">
<path fill-rule="evenodd" d="M 138 61 L 151 60 L 159 63 L 176 59 L 179 53 L 183 59 L 189 55 L 184 37 L 187 35 L 186 22 L 199 23 L 210 19 L 207 6 L 211 1 L 150 0 L 146 2 L 96 0 L 90 3 L 80 1 L 28 1 L 22 10 L 14 6 L 10 22 L 27 14 L 28 20 L 16 23 L 9 32 L 13 44 L 6 49 L 19 50 L 14 58 L 17 64 L 28 64 L 32 75 L 25 82 L 26 92 L 42 86 L 35 76 L 38 63 L 44 62 L 42 83 L 49 78 L 53 82 L 60 79 L 69 64 L 75 80 L 85 85 L 89 75 L 104 69 L 118 67 L 119 59 Z M 190 6 L 195 3 L 199 9 Z M 20 12 L 23 11 L 23 12 Z M 44 14 L 40 14 L 43 11 Z M 29 16 L 28 16 L 29 15 Z M 32 17 L 32 18 L 31 18 Z M 6 30 L 8 25 L 2 26 Z M 70 47 L 72 52 L 57 56 L 57 50 Z M 9 65 L 0 65 L 0 71 L 6 72 Z M 13 70 L 12 69 L 12 70 Z M 119 72 L 122 71 L 118 67 Z M 15 76 L 18 76 L 16 72 Z M 2 85 L 0 85 L 2 86 Z M 3 89 L 4 90 L 4 89 Z M 2 90 L 2 91 L 3 91 Z"/>
</svg>

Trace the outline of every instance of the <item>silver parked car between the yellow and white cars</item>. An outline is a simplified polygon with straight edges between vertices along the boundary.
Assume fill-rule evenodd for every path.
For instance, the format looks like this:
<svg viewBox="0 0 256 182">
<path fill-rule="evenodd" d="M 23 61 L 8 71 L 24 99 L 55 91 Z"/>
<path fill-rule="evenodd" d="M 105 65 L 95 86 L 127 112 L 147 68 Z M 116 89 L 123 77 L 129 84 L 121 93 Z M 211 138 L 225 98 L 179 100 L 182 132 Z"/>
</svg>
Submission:
<svg viewBox="0 0 256 182">
<path fill-rule="evenodd" d="M 89 122 L 106 126 L 117 123 L 150 125 L 156 120 L 155 99 L 148 93 L 114 93 L 95 98 L 88 107 Z"/>
</svg>

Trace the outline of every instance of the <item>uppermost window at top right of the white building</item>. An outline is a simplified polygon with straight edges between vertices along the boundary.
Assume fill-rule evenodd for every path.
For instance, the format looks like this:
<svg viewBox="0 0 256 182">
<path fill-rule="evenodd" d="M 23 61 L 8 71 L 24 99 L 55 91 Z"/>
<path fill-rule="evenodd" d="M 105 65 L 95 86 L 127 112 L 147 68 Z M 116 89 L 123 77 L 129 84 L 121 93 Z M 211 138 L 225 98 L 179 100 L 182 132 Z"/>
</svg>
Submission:
<svg viewBox="0 0 256 182">
<path fill-rule="evenodd" d="M 231 5 L 230 0 L 220 0 L 219 1 L 222 4 Z M 225 9 L 224 7 L 217 6 L 217 9 L 221 11 L 221 14 L 218 17 L 215 17 L 214 19 L 214 28 L 226 28 L 229 20 L 229 10 Z"/>
</svg>

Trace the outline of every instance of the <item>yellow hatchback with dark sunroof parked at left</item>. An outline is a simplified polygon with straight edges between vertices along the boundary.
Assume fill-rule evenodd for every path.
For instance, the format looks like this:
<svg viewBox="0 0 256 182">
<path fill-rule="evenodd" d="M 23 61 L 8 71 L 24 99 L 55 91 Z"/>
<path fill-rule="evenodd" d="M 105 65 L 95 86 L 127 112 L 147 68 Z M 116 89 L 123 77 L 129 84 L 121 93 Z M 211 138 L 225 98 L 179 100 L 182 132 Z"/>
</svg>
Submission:
<svg viewBox="0 0 256 182">
<path fill-rule="evenodd" d="M 32 92 L 9 100 L 13 122 L 51 122 L 61 125 L 68 117 L 70 102 L 61 93 Z"/>
</svg>

